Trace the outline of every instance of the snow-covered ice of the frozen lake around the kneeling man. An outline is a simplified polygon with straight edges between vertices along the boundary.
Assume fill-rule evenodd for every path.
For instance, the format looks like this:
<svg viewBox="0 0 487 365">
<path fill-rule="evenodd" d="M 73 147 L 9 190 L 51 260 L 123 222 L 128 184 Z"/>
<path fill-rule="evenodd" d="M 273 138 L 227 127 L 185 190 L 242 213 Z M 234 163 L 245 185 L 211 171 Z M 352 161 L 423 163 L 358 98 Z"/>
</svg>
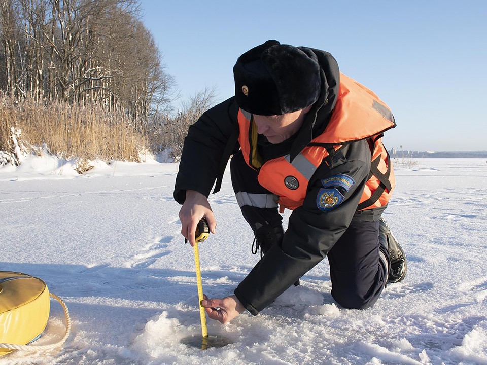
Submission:
<svg viewBox="0 0 487 365">
<path fill-rule="evenodd" d="M 401 162 L 401 161 L 398 161 Z M 487 164 L 418 159 L 396 165 L 384 216 L 408 258 L 403 282 L 367 310 L 340 308 L 324 260 L 270 307 L 208 332 L 200 350 L 193 250 L 172 199 L 178 164 L 71 162 L 31 156 L 0 168 L 0 270 L 42 278 L 73 320 L 62 348 L 4 364 L 487 364 Z M 195 177 L 197 178 L 197 176 Z M 257 262 L 228 171 L 210 197 L 217 233 L 200 245 L 203 289 L 231 294 Z M 285 213 L 286 217 L 289 212 Z M 61 307 L 38 344 L 64 333 Z"/>
</svg>

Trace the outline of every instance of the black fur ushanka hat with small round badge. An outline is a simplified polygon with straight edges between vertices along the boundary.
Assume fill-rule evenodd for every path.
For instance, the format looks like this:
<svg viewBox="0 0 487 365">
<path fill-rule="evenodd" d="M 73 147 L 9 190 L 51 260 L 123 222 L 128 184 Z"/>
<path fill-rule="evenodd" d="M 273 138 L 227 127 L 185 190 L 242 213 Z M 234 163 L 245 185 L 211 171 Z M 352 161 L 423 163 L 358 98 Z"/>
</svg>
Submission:
<svg viewBox="0 0 487 365">
<path fill-rule="evenodd" d="M 256 115 L 296 112 L 315 103 L 321 92 L 315 53 L 274 40 L 238 57 L 233 77 L 238 106 Z"/>
</svg>

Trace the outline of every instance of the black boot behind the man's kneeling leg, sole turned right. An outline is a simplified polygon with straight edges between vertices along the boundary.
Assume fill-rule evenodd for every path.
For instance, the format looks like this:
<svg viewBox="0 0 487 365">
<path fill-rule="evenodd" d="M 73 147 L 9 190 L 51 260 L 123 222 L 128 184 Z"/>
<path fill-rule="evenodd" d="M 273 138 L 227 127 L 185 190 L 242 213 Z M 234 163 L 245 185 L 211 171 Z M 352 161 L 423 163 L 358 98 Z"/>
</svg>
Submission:
<svg viewBox="0 0 487 365">
<path fill-rule="evenodd" d="M 388 282 L 394 283 L 404 280 L 407 272 L 406 255 L 386 221 L 382 218 L 379 221 L 379 241 L 387 248 L 391 261 Z"/>
</svg>

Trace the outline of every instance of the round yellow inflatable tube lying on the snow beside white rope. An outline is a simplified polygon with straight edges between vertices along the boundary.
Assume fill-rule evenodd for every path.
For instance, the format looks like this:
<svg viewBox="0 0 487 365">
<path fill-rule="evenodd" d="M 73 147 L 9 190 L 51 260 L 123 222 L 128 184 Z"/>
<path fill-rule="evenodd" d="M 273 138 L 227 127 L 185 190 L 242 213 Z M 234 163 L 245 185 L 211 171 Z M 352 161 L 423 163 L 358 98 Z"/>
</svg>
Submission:
<svg viewBox="0 0 487 365">
<path fill-rule="evenodd" d="M 49 319 L 49 290 L 41 279 L 0 271 L 0 343 L 25 345 L 39 336 Z M 0 356 L 13 350 L 0 349 Z"/>
</svg>

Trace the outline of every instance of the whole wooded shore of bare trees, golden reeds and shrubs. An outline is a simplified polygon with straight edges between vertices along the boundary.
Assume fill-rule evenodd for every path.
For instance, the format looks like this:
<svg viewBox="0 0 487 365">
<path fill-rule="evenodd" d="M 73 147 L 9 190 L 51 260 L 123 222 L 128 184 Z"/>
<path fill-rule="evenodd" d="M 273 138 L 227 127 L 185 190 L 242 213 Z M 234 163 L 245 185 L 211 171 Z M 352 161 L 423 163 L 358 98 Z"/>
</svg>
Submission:
<svg viewBox="0 0 487 365">
<path fill-rule="evenodd" d="M 214 90 L 177 97 L 136 0 L 0 0 L 0 165 L 177 159 Z"/>
</svg>

